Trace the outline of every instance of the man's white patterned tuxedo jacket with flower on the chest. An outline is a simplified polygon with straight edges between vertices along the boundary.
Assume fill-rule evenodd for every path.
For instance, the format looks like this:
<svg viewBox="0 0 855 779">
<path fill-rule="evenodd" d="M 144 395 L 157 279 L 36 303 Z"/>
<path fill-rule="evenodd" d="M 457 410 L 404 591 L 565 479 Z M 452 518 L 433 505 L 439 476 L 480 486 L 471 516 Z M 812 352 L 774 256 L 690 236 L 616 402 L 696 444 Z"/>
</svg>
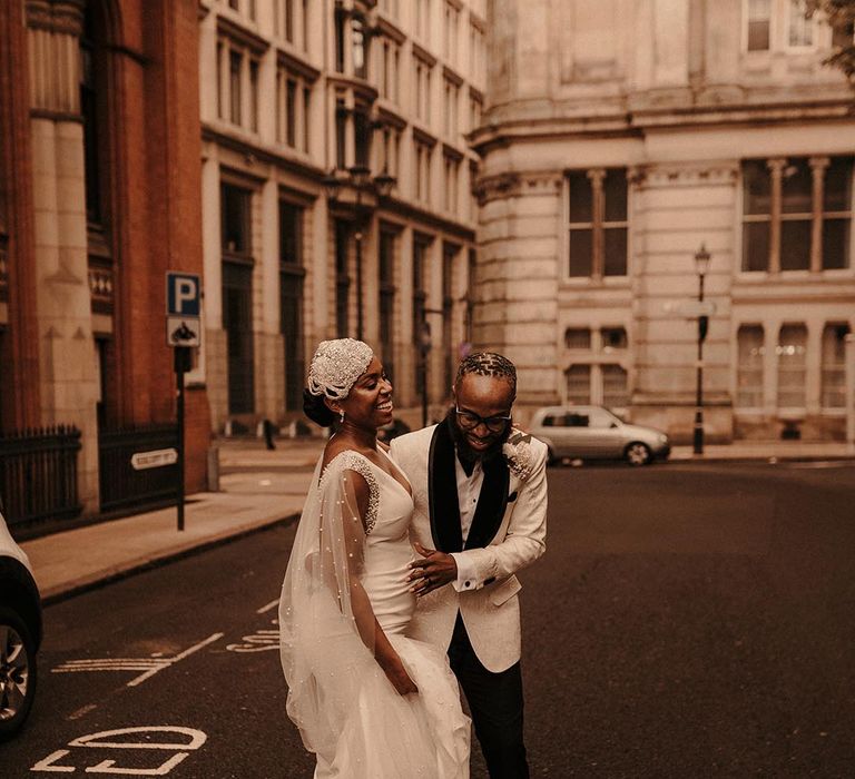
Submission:
<svg viewBox="0 0 855 779">
<path fill-rule="evenodd" d="M 462 546 L 454 446 L 445 423 L 394 438 L 393 460 L 413 487 L 413 542 L 462 552 L 476 571 L 471 590 L 452 584 L 420 599 L 407 633 L 446 651 L 460 611 L 472 648 L 498 673 L 520 659 L 521 584 L 517 571 L 546 551 L 547 446 L 529 438 L 530 465 L 523 481 L 503 457 L 484 467 L 484 481 L 465 545 Z"/>
</svg>

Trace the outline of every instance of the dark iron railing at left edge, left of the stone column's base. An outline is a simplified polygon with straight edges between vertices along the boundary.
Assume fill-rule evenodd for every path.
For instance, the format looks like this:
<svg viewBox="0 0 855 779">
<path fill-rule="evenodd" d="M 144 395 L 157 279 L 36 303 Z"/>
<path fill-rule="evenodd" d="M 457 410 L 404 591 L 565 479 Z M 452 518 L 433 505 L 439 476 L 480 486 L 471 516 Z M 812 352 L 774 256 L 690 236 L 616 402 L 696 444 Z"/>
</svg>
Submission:
<svg viewBox="0 0 855 779">
<path fill-rule="evenodd" d="M 77 516 L 80 431 L 59 425 L 0 435 L 0 497 L 10 527 Z"/>
</svg>

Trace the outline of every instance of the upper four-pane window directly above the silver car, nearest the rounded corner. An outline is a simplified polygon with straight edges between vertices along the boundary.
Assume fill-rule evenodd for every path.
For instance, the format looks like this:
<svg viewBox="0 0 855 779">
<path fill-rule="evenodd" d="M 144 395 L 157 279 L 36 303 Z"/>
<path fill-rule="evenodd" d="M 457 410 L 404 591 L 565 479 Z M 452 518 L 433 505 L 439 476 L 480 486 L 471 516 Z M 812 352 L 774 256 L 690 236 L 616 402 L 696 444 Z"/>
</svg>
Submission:
<svg viewBox="0 0 855 779">
<path fill-rule="evenodd" d="M 571 277 L 626 276 L 628 184 L 622 168 L 573 171 L 569 185 Z"/>
</svg>

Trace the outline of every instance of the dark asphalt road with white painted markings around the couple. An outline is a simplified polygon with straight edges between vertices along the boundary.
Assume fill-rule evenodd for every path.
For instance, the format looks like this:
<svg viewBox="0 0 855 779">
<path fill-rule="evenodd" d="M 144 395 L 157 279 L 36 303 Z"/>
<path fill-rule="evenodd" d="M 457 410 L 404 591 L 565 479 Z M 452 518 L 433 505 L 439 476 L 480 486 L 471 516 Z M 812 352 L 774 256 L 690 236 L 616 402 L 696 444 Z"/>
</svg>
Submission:
<svg viewBox="0 0 855 779">
<path fill-rule="evenodd" d="M 521 576 L 532 776 L 853 775 L 853 465 L 552 469 L 550 500 Z M 293 530 L 49 607 L 0 776 L 311 777 L 272 605 Z"/>
</svg>

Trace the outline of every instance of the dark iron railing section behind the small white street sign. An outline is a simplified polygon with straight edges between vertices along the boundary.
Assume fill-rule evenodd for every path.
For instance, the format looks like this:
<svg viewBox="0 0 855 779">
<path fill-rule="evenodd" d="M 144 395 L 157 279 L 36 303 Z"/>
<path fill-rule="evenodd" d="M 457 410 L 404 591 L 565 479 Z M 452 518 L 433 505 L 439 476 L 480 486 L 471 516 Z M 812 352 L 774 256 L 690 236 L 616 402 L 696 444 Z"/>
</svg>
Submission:
<svg viewBox="0 0 855 779">
<path fill-rule="evenodd" d="M 145 425 L 98 433 L 98 475 L 102 513 L 173 505 L 178 500 L 177 463 L 139 467 L 134 455 L 176 450 L 178 427 Z M 134 464 L 138 467 L 135 467 Z"/>
</svg>

